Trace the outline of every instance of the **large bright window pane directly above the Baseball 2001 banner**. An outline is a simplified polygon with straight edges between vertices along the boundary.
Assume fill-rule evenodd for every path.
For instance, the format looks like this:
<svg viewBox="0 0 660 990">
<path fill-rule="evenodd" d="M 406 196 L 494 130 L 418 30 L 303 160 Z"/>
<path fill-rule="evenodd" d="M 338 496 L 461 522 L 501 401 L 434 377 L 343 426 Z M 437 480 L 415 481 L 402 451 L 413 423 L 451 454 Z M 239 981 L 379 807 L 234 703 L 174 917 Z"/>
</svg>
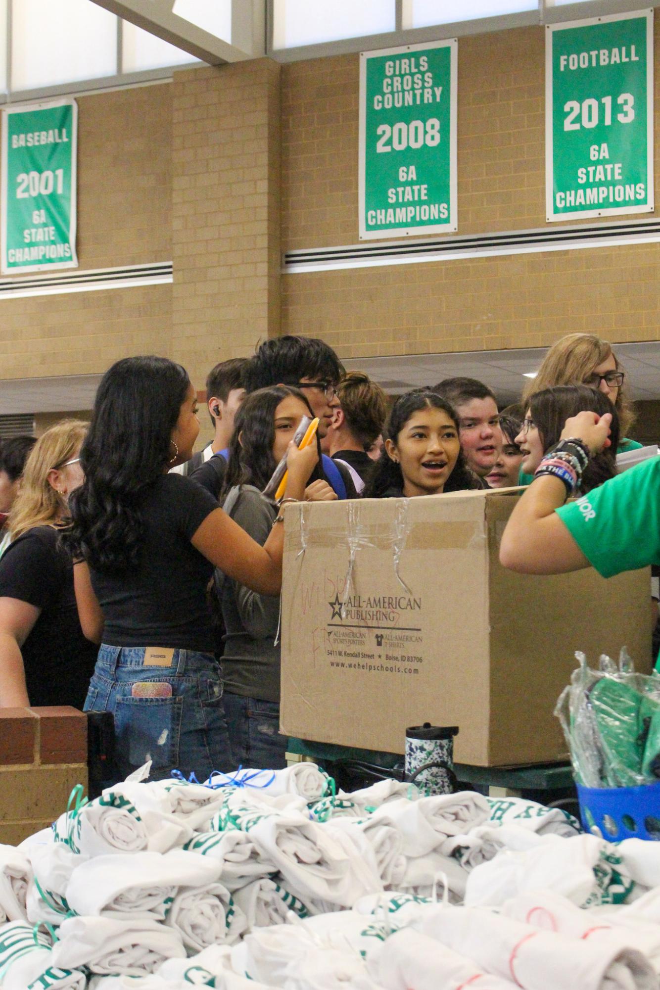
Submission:
<svg viewBox="0 0 660 990">
<path fill-rule="evenodd" d="M 89 0 L 12 0 L 12 90 L 117 72 L 117 18 Z"/>
</svg>

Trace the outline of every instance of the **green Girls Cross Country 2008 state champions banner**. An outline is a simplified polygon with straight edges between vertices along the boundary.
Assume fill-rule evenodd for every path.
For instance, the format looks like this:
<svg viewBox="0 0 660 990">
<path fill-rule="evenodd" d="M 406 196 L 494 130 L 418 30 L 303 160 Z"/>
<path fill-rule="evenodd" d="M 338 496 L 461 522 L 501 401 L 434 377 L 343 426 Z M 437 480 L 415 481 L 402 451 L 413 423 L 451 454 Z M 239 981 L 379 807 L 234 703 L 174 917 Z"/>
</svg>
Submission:
<svg viewBox="0 0 660 990">
<path fill-rule="evenodd" d="M 456 53 L 360 52 L 360 240 L 457 229 Z"/>
</svg>

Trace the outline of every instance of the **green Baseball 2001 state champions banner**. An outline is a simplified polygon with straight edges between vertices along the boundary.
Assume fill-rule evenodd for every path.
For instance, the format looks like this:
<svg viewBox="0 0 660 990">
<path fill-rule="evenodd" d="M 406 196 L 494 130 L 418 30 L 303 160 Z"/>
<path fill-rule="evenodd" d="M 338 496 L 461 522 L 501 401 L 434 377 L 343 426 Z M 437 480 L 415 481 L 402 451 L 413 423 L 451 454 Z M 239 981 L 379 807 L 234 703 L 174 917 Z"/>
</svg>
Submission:
<svg viewBox="0 0 660 990">
<path fill-rule="evenodd" d="M 77 267 L 75 100 L 2 112 L 5 274 Z"/>
</svg>

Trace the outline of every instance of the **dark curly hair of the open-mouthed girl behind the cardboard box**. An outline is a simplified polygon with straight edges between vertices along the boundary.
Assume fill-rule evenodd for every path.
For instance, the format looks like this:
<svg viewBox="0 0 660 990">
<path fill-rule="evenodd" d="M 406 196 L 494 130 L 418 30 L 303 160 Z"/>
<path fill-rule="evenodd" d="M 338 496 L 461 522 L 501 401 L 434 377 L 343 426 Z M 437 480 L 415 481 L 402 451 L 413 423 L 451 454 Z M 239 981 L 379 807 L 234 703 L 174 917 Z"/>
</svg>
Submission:
<svg viewBox="0 0 660 990">
<path fill-rule="evenodd" d="M 392 407 L 390 418 L 385 428 L 385 438 L 396 444 L 399 434 L 404 429 L 413 413 L 420 409 L 441 409 L 446 413 L 456 427 L 458 433 L 458 416 L 446 399 L 428 388 L 416 388 L 400 396 Z M 385 498 L 391 489 L 403 490 L 404 476 L 401 464 L 392 460 L 385 446 L 375 463 L 374 469 L 362 492 L 363 498 Z M 478 488 L 474 474 L 467 466 L 462 449 L 459 451 L 454 468 L 444 485 L 445 492 L 462 491 L 463 489 Z"/>
</svg>

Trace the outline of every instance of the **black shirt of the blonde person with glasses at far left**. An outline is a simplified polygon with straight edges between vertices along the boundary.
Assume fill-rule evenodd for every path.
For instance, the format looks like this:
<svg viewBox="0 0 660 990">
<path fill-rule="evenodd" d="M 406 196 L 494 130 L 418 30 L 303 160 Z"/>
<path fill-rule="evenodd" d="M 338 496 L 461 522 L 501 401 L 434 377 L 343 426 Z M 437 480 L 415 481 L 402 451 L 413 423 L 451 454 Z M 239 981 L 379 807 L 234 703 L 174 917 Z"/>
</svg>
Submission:
<svg viewBox="0 0 660 990">
<path fill-rule="evenodd" d="M 41 609 L 21 647 L 31 705 L 82 708 L 99 647 L 82 635 L 73 567 L 51 526 L 36 526 L 0 559 L 0 597 Z"/>
</svg>

